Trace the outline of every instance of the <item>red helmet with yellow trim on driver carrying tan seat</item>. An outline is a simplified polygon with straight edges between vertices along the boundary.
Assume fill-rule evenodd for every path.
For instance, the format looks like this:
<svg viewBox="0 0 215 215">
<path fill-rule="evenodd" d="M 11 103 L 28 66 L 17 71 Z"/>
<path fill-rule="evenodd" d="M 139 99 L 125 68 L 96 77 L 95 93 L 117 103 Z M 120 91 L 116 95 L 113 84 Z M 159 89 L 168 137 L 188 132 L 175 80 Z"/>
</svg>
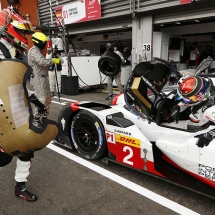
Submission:
<svg viewBox="0 0 215 215">
<path fill-rule="evenodd" d="M 28 47 L 28 40 L 25 34 L 33 34 L 34 29 L 29 20 L 18 13 L 13 8 L 7 8 L 0 11 L 0 34 L 8 42 L 21 51 Z"/>
</svg>

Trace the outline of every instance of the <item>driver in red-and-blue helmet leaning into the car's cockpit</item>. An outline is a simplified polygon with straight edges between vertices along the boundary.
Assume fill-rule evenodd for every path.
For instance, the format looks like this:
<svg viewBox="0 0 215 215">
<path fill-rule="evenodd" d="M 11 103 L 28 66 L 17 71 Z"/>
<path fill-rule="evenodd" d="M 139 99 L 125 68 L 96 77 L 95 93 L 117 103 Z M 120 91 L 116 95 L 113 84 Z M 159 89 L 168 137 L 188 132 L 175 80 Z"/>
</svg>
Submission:
<svg viewBox="0 0 215 215">
<path fill-rule="evenodd" d="M 178 85 L 177 93 L 174 95 L 174 99 L 178 104 L 170 111 L 169 126 L 174 123 L 171 122 L 171 119 L 176 124 L 181 123 L 181 128 L 186 125 L 193 126 L 193 128 L 195 126 L 204 127 L 209 121 L 215 122 L 213 114 L 215 113 L 214 96 L 211 96 L 211 92 L 213 92 L 211 88 L 212 83 L 206 78 L 199 76 L 182 78 Z M 190 108 L 189 120 L 187 120 L 187 123 L 179 121 L 180 113 L 187 108 Z M 196 135 L 195 138 L 198 138 L 196 143 L 198 147 L 208 146 L 215 138 L 215 129 Z"/>
</svg>

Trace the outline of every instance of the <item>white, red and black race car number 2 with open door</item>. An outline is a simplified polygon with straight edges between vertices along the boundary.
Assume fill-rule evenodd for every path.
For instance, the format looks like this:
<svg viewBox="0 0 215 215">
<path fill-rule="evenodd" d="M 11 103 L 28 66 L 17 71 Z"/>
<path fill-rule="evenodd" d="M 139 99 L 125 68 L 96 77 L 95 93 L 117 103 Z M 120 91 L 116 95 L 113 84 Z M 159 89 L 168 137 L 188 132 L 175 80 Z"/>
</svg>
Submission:
<svg viewBox="0 0 215 215">
<path fill-rule="evenodd" d="M 162 90 L 171 73 L 169 62 L 154 58 L 136 65 L 124 94 L 111 105 L 63 106 L 55 142 L 88 160 L 113 161 L 215 198 L 215 140 L 201 148 L 195 137 L 215 126 L 190 125 L 189 108 L 180 113 L 180 123 L 168 122 L 175 89 Z"/>
</svg>

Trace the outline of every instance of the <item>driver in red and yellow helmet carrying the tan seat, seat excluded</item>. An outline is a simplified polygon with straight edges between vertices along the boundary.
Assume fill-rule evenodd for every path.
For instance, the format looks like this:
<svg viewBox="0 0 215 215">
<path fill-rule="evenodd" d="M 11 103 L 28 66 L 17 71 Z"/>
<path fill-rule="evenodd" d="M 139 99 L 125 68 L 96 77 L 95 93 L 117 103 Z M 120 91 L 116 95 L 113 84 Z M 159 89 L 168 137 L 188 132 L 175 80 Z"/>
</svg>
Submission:
<svg viewBox="0 0 215 215">
<path fill-rule="evenodd" d="M 27 49 L 28 40 L 25 34 L 33 34 L 33 26 L 30 21 L 26 20 L 24 16 L 18 13 L 17 9 L 12 7 L 0 11 L 0 52 L 1 58 L 16 58 L 23 56 L 23 52 Z M 8 18 L 8 20 L 7 20 Z M 41 116 L 46 115 L 45 106 L 37 99 L 32 92 L 29 93 L 29 100 L 38 108 L 38 113 Z M 15 108 L 15 107 L 14 107 Z M 34 202 L 37 196 L 30 193 L 26 189 L 26 182 L 29 176 L 29 169 L 31 167 L 31 158 L 34 157 L 33 152 L 25 156 L 18 157 L 15 171 L 15 196 L 22 197 L 27 201 Z M 0 169 L 6 166 L 13 159 L 12 155 L 4 153 L 0 147 Z"/>
</svg>

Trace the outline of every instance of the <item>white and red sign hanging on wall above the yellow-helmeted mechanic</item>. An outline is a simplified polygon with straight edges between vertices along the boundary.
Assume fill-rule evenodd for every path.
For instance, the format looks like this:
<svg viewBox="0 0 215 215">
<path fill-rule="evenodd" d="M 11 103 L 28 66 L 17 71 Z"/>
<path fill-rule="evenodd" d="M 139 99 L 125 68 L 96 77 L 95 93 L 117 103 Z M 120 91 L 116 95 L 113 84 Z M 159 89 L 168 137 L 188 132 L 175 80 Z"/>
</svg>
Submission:
<svg viewBox="0 0 215 215">
<path fill-rule="evenodd" d="M 71 4 L 58 6 L 55 8 L 57 16 L 56 24 L 64 24 L 85 22 L 101 18 L 101 2 L 100 0 L 79 0 Z"/>
</svg>

